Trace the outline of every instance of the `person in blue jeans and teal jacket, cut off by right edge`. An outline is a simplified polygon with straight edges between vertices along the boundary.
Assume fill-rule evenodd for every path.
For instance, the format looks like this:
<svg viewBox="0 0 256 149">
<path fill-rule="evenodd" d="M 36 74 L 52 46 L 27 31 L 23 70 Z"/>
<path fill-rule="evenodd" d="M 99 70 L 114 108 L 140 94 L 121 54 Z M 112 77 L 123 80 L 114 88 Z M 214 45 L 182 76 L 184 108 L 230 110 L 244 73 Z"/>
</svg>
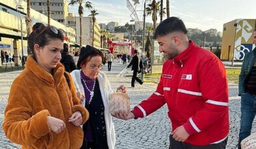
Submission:
<svg viewBox="0 0 256 149">
<path fill-rule="evenodd" d="M 256 29 L 253 30 L 253 43 L 256 45 Z M 251 126 L 256 112 L 256 48 L 244 56 L 239 75 L 239 96 L 241 96 L 241 122 L 238 148 L 241 141 L 251 135 Z"/>
</svg>

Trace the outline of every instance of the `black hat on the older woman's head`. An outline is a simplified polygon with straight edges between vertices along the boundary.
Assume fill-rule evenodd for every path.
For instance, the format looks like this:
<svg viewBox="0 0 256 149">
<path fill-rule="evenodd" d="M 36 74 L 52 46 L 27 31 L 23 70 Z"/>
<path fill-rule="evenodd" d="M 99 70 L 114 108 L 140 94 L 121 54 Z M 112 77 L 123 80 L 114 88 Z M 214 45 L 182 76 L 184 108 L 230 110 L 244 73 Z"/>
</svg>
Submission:
<svg viewBox="0 0 256 149">
<path fill-rule="evenodd" d="M 81 65 L 89 62 L 94 56 L 101 56 L 101 60 L 103 60 L 104 57 L 103 52 L 101 52 L 99 49 L 89 47 L 88 45 L 86 47 L 82 47 L 79 60 L 77 62 L 77 68 L 81 69 Z"/>
</svg>

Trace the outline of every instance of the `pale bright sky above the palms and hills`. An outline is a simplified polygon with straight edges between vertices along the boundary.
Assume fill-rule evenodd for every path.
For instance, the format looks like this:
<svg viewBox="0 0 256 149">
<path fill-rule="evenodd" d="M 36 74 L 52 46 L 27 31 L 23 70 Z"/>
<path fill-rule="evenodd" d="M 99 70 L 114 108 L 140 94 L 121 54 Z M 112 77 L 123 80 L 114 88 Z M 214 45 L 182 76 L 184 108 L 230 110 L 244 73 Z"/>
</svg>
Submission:
<svg viewBox="0 0 256 149">
<path fill-rule="evenodd" d="M 70 0 L 68 0 L 70 1 Z M 134 5 L 133 0 L 89 0 L 99 15 L 97 23 L 109 23 L 116 21 L 119 25 L 125 25 L 132 19 L 131 11 L 127 8 L 130 1 L 136 10 L 139 21 L 143 21 L 143 4 L 145 0 L 139 0 L 140 4 Z M 146 4 L 151 0 L 146 0 Z M 160 1 L 160 0 L 157 0 Z M 166 1 L 164 0 L 164 7 Z M 234 19 L 256 19 L 255 0 L 170 0 L 170 16 L 179 17 L 186 28 L 201 30 L 217 29 L 222 32 L 224 23 Z M 69 11 L 77 13 L 78 6 L 69 6 Z M 84 9 L 84 16 L 90 12 Z M 166 16 L 163 17 L 166 19 Z M 159 22 L 160 16 L 157 19 Z M 146 16 L 146 22 L 153 23 L 151 16 Z"/>
</svg>

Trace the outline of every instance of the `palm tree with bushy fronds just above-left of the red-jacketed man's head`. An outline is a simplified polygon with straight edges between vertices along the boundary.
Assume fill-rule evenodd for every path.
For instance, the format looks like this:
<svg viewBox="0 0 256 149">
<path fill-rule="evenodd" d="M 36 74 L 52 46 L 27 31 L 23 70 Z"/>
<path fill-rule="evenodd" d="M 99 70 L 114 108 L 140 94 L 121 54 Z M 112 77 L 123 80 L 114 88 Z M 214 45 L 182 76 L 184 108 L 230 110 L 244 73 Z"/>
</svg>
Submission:
<svg viewBox="0 0 256 149">
<path fill-rule="evenodd" d="M 155 0 L 152 1 L 151 4 L 147 5 L 146 12 L 147 16 L 152 15 L 152 21 L 153 21 L 153 30 L 157 27 L 157 13 L 159 13 L 159 16 L 162 14 L 166 14 L 164 11 L 166 8 L 163 8 L 162 13 L 160 11 L 160 1 L 156 3 Z"/>
</svg>

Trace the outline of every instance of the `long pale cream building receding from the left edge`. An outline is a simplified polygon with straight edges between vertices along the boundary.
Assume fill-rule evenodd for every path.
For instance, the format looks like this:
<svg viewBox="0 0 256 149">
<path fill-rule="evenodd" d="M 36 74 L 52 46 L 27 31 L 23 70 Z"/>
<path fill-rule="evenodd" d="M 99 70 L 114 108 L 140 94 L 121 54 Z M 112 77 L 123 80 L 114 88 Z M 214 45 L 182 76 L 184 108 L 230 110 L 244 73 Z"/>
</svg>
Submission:
<svg viewBox="0 0 256 149">
<path fill-rule="evenodd" d="M 23 9 L 16 9 L 20 5 Z M 25 24 L 25 16 L 27 14 L 27 3 L 25 1 L 9 1 L 0 0 L 0 49 L 9 53 L 10 56 L 27 56 L 27 32 Z M 8 18 L 8 19 L 6 19 Z M 47 16 L 40 14 L 31 8 L 31 24 L 36 22 L 47 25 Z M 62 29 L 67 34 L 67 42 L 75 43 L 75 30 L 66 27 L 62 23 L 58 23 L 51 19 L 51 25 Z M 21 42 L 21 26 L 22 38 Z M 64 33 L 64 34 L 65 34 Z M 23 45 L 23 46 L 21 46 Z"/>
</svg>

